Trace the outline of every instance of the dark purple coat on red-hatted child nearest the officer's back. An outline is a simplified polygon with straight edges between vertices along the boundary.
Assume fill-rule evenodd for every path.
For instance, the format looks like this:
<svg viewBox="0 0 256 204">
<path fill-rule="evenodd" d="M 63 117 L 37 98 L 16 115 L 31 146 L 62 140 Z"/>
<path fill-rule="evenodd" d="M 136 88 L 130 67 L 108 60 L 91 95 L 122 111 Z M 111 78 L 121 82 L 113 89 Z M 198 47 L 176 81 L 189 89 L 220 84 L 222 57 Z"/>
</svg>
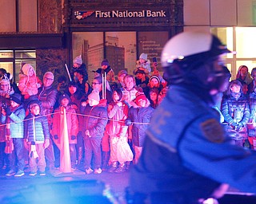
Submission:
<svg viewBox="0 0 256 204">
<path fill-rule="evenodd" d="M 146 129 L 149 127 L 151 116 L 154 108 L 130 108 L 128 118 L 135 123 L 146 124 L 133 124 L 132 126 L 132 140 L 133 144 L 138 147 L 143 147 L 144 139 L 146 137 Z"/>
</svg>

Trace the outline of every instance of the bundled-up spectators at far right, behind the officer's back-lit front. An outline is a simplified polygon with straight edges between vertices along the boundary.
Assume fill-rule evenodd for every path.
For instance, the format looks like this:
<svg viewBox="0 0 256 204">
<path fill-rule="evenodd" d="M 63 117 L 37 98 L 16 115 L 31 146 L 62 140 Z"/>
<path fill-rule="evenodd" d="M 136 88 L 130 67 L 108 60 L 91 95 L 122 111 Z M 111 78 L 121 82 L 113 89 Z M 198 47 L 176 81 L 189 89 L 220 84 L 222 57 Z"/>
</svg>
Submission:
<svg viewBox="0 0 256 204">
<path fill-rule="evenodd" d="M 250 149 L 256 148 L 256 68 L 251 74 L 246 65 L 238 69 L 235 80 L 230 84 L 222 97 L 222 124 L 233 143 Z M 252 77 L 251 77 L 252 76 Z"/>
</svg>

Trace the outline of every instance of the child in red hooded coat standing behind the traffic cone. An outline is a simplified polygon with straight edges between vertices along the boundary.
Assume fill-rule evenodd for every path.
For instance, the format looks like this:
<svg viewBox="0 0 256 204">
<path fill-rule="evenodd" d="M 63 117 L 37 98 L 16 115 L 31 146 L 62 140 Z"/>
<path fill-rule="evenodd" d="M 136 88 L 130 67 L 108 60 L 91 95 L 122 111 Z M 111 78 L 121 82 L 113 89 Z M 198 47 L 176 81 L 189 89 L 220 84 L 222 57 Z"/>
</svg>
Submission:
<svg viewBox="0 0 256 204">
<path fill-rule="evenodd" d="M 71 168 L 75 170 L 76 160 L 77 160 L 77 151 L 76 151 L 76 143 L 78 143 L 77 135 L 78 135 L 78 116 L 70 105 L 70 96 L 66 93 L 62 94 L 59 97 L 58 103 L 60 106 L 55 110 L 55 112 L 61 112 L 62 108 L 66 108 L 66 121 L 67 121 L 67 129 L 69 135 L 69 143 L 70 143 L 70 160 L 71 160 Z M 62 128 L 60 127 L 61 114 L 54 114 L 53 117 L 53 129 L 52 135 L 54 135 L 54 142 L 57 147 L 60 148 L 61 154 L 64 150 L 61 149 L 60 143 L 62 139 Z"/>
</svg>

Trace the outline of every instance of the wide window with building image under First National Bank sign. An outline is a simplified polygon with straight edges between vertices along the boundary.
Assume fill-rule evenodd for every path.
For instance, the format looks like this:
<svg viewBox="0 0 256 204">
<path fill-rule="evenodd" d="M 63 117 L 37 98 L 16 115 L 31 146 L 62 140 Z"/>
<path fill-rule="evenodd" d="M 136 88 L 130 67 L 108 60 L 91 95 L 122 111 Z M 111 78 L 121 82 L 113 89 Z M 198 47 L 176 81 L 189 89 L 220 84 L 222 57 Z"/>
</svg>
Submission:
<svg viewBox="0 0 256 204">
<path fill-rule="evenodd" d="M 73 58 L 82 55 L 86 63 L 89 80 L 94 77 L 104 58 L 117 75 L 122 69 L 133 74 L 136 61 L 141 53 L 146 53 L 152 63 L 152 57 L 160 61 L 162 48 L 169 39 L 168 31 L 158 32 L 73 32 Z M 158 70 L 162 69 L 158 63 Z"/>
</svg>

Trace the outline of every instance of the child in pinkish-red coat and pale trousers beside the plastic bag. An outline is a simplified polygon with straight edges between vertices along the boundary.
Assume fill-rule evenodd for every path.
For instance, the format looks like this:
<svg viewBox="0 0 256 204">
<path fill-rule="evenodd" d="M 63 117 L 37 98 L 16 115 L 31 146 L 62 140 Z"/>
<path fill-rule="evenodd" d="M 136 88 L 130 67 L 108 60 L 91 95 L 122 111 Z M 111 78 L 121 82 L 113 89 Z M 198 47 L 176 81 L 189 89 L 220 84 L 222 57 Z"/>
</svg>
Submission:
<svg viewBox="0 0 256 204">
<path fill-rule="evenodd" d="M 110 135 L 110 173 L 122 173 L 126 171 L 126 163 L 119 163 L 117 157 L 117 144 L 120 138 L 127 140 L 127 126 L 125 120 L 128 116 L 128 105 L 122 100 L 122 90 L 120 88 L 113 92 L 113 102 L 108 106 L 108 116 L 111 119 L 108 134 Z"/>
</svg>

